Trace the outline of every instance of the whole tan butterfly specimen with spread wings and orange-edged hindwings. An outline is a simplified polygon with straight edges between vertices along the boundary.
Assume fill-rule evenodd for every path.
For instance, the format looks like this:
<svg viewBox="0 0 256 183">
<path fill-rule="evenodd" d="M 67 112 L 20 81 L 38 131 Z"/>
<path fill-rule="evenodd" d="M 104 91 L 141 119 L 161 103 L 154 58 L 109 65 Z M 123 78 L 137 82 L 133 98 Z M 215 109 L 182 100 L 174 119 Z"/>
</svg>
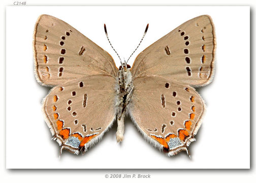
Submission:
<svg viewBox="0 0 256 183">
<path fill-rule="evenodd" d="M 202 15 L 147 47 L 132 68 L 124 61 L 118 69 L 108 52 L 74 27 L 41 15 L 34 31 L 35 73 L 42 85 L 53 86 L 43 112 L 60 153 L 84 153 L 115 121 L 122 141 L 130 115 L 153 146 L 168 156 L 182 150 L 190 156 L 187 147 L 205 110 L 194 87 L 212 81 L 215 47 L 212 19 Z"/>
</svg>

